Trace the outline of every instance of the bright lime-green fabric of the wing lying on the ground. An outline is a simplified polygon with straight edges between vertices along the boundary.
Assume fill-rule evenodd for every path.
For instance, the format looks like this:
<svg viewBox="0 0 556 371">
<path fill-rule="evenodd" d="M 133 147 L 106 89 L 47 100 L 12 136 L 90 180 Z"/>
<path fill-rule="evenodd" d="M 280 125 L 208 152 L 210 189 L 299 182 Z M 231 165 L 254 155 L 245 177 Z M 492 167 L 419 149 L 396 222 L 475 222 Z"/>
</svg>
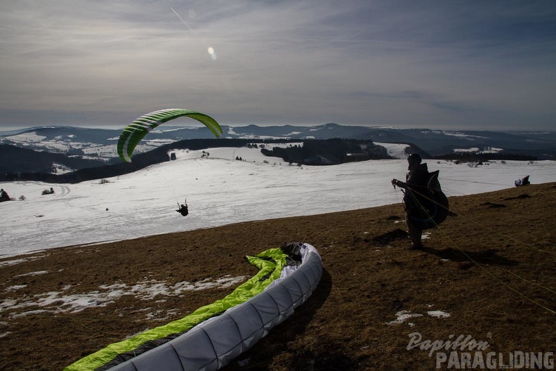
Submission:
<svg viewBox="0 0 556 371">
<path fill-rule="evenodd" d="M 64 371 L 93 371 L 106 365 L 111 360 L 123 353 L 128 353 L 138 349 L 147 341 L 164 339 L 172 334 L 180 334 L 190 330 L 195 325 L 208 320 L 214 315 L 218 315 L 229 308 L 237 306 L 263 292 L 270 283 L 280 278 L 282 269 L 286 266 L 287 255 L 282 249 L 268 249 L 257 256 L 246 256 L 251 265 L 259 268 L 259 271 L 252 278 L 242 285 L 239 285 L 234 292 L 223 299 L 215 301 L 213 304 L 201 306 L 190 315 L 175 320 L 164 326 L 156 327 L 152 330 L 142 332 L 135 337 L 110 344 L 104 349 L 97 351 L 77 362 L 69 365 Z"/>
</svg>

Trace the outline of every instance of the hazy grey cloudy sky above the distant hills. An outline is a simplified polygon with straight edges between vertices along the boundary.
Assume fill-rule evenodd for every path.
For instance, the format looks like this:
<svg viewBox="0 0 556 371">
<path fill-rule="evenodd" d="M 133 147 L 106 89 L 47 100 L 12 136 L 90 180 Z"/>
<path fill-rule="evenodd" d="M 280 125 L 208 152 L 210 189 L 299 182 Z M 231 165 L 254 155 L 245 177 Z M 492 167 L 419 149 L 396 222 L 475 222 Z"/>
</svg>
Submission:
<svg viewBox="0 0 556 371">
<path fill-rule="evenodd" d="M 0 0 L 0 32 L 0 130 L 164 108 L 230 126 L 554 130 L 553 0 Z"/>
</svg>

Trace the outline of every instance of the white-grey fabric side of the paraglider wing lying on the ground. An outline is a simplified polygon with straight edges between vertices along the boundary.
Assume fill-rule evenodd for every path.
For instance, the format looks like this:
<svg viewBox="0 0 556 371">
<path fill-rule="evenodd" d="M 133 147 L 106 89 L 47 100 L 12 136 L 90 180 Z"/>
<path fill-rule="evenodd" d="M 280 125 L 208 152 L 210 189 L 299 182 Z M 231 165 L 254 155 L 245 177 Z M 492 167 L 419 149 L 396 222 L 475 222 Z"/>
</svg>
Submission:
<svg viewBox="0 0 556 371">
<path fill-rule="evenodd" d="M 219 370 L 286 320 L 315 291 L 322 259 L 309 244 L 303 244 L 301 256 L 295 270 L 284 268 L 282 277 L 264 292 L 110 371 Z"/>
</svg>

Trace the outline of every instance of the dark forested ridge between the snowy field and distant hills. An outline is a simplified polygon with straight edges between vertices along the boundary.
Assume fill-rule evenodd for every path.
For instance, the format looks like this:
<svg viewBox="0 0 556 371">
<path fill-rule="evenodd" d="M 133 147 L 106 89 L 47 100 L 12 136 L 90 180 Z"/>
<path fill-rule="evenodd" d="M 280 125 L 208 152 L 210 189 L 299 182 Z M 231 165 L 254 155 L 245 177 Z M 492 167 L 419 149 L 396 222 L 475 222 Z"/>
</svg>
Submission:
<svg viewBox="0 0 556 371">
<path fill-rule="evenodd" d="M 303 142 L 303 145 L 299 143 Z M 0 168 L 0 181 L 44 181 L 48 183 L 79 183 L 81 181 L 91 181 L 94 179 L 110 178 L 132 173 L 145 167 L 149 167 L 161 162 L 171 161 L 168 152 L 171 150 L 204 150 L 218 147 L 251 147 L 257 143 L 256 147 L 261 148 L 261 152 L 267 156 L 281 157 L 285 162 L 296 162 L 297 164 L 329 165 L 340 164 L 343 162 L 388 159 L 385 148 L 374 145 L 371 140 L 354 139 L 326 139 L 326 140 L 303 140 L 299 139 L 186 139 L 166 145 L 149 152 L 133 155 L 133 162 L 122 162 L 119 158 L 114 158 L 110 162 L 103 163 L 96 160 L 84 160 L 74 157 L 67 157 L 60 154 L 48 152 L 37 152 L 34 150 L 22 150 L 12 145 L 1 145 L 0 150 L 12 153 L 11 161 L 17 162 L 20 153 L 25 155 L 21 159 L 25 164 L 37 163 L 40 167 L 10 167 Z M 272 148 L 272 143 L 290 143 L 286 148 Z M 269 144 L 271 149 L 265 148 Z M 2 152 L 4 153 L 4 152 Z M 15 154 L 15 155 L 14 155 Z M 56 156 L 54 156 L 56 155 Z M 72 162 L 65 162 L 66 159 L 73 158 Z M 3 160 L 8 157 L 2 155 Z M 42 160 L 39 160 L 42 159 Z M 79 162 L 81 160 L 81 162 Z M 53 162 L 71 164 L 77 170 L 65 174 L 53 174 Z M 22 170 L 18 170 L 22 169 Z"/>
</svg>

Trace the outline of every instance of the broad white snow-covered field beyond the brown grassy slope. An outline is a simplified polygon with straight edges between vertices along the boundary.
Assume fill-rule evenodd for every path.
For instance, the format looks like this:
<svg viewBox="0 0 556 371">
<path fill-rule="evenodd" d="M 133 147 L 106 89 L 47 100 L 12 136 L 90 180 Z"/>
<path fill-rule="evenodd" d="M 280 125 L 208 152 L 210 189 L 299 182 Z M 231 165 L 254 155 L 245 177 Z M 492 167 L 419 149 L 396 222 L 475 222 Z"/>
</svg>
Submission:
<svg viewBox="0 0 556 371">
<path fill-rule="evenodd" d="M 399 149 L 389 148 L 392 153 Z M 0 257 L 395 204 L 402 201 L 402 193 L 390 181 L 404 180 L 407 167 L 405 160 L 298 167 L 249 148 L 175 153 L 176 161 L 104 181 L 0 183 L 15 199 L 0 204 Z M 237 157 L 241 161 L 234 160 Z M 478 167 L 425 162 L 429 171 L 440 170 L 439 179 L 448 196 L 512 188 L 515 179 L 525 175 L 531 176 L 533 184 L 556 181 L 556 162 L 550 161 L 491 162 Z M 53 194 L 41 195 L 50 188 Z M 21 196 L 25 200 L 20 200 Z M 176 209 L 185 198 L 190 214 L 183 217 Z"/>
</svg>

